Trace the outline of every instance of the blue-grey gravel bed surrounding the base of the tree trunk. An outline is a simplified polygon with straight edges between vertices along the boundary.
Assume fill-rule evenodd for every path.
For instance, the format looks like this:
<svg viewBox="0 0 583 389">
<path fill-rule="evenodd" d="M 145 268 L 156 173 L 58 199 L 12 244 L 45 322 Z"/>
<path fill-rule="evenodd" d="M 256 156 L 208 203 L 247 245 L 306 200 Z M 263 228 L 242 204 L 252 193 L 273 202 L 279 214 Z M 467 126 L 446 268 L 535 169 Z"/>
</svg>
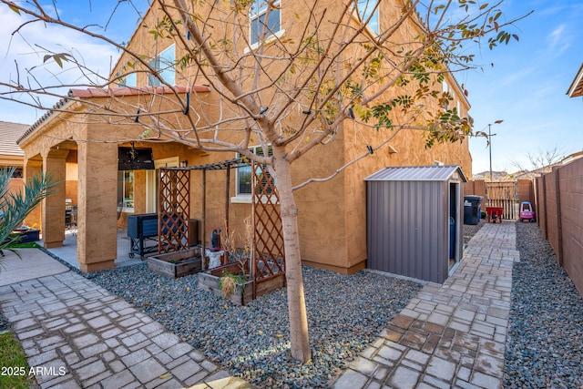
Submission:
<svg viewBox="0 0 583 389">
<path fill-rule="evenodd" d="M 303 268 L 312 362 L 290 353 L 285 289 L 240 307 L 197 288 L 197 276 L 171 280 L 145 265 L 88 275 L 212 360 L 262 388 L 326 387 L 420 290 L 417 282 L 371 271 L 350 276 Z"/>
</svg>

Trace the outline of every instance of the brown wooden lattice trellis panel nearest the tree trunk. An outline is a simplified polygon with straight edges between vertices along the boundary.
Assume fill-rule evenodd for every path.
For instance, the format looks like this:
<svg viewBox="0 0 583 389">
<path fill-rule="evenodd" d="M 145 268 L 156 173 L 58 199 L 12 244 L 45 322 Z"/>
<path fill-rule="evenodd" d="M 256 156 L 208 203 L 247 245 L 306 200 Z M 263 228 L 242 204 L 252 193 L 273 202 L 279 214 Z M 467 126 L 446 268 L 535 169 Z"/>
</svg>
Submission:
<svg viewBox="0 0 583 389">
<path fill-rule="evenodd" d="M 285 280 L 285 255 L 281 228 L 280 197 L 273 179 L 261 164 L 252 164 L 253 294 L 261 282 Z"/>
</svg>

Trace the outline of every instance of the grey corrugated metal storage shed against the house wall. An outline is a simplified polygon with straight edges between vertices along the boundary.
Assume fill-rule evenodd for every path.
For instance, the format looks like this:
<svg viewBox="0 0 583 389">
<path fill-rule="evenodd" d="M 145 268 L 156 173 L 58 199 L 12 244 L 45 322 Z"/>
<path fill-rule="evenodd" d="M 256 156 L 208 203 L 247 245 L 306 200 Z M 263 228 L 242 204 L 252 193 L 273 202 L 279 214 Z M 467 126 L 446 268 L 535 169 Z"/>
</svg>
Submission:
<svg viewBox="0 0 583 389">
<path fill-rule="evenodd" d="M 445 282 L 463 250 L 462 169 L 385 168 L 364 180 L 367 267 Z"/>
</svg>

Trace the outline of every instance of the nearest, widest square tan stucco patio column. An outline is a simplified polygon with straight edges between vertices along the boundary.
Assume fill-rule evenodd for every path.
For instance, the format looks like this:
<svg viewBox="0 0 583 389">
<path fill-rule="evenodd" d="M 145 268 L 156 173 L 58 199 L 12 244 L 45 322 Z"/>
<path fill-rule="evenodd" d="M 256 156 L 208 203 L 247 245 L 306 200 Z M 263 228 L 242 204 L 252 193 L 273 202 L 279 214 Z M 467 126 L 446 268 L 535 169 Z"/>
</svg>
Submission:
<svg viewBox="0 0 583 389">
<path fill-rule="evenodd" d="M 77 261 L 81 271 L 115 266 L 118 257 L 118 145 L 78 142 Z"/>
</svg>

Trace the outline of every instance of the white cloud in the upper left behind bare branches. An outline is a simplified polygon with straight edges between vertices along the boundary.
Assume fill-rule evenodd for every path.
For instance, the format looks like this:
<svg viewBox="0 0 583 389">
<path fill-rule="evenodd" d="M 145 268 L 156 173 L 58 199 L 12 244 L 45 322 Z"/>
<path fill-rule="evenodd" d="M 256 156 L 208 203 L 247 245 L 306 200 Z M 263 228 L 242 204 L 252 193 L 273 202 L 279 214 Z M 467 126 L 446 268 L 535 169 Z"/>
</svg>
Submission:
<svg viewBox="0 0 583 389">
<path fill-rule="evenodd" d="M 115 47 L 63 26 L 41 22 L 25 25 L 30 18 L 17 15 L 7 6 L 0 6 L 0 20 L 2 83 L 17 82 L 25 87 L 49 87 L 51 93 L 64 96 L 72 86 L 102 83 L 103 79 L 100 77 L 108 77 L 110 67 L 115 65 L 119 56 Z M 88 69 L 81 72 L 74 64 L 66 62 L 61 68 L 52 59 L 44 63 L 44 56 L 50 52 L 68 53 Z M 7 90 L 7 87 L 0 87 L 0 93 Z M 13 95 L 13 98 L 27 99 L 26 95 Z M 51 107 L 57 99 L 58 97 L 41 97 L 47 107 Z M 0 120 L 30 123 L 43 113 L 40 111 L 35 114 L 30 108 L 0 99 Z M 36 118 L 29 118 L 31 115 Z"/>
</svg>

